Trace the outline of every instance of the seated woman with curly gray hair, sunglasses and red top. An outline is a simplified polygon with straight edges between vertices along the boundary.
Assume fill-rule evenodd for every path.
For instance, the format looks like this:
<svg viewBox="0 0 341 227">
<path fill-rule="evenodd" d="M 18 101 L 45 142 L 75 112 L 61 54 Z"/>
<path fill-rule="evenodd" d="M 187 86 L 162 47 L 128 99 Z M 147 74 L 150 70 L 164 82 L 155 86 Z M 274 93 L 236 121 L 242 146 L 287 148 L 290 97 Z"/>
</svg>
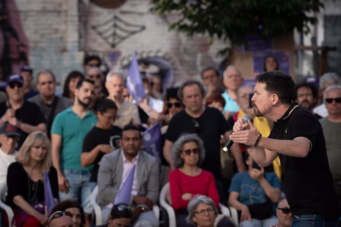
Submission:
<svg viewBox="0 0 341 227">
<path fill-rule="evenodd" d="M 176 169 L 170 172 L 169 181 L 176 225 L 193 226 L 185 221 L 188 215 L 186 207 L 192 198 L 206 195 L 214 201 L 216 208 L 219 205 L 213 174 L 199 167 L 205 159 L 203 141 L 196 134 L 182 135 L 174 143 L 172 158 Z M 222 226 L 231 225 L 227 219 L 223 223 Z"/>
</svg>

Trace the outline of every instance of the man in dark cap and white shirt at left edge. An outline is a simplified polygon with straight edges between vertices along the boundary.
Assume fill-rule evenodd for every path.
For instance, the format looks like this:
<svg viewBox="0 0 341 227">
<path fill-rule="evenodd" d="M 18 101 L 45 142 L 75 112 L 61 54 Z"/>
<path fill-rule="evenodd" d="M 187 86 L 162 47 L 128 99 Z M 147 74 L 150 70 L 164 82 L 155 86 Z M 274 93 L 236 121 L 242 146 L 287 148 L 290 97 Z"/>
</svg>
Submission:
<svg viewBox="0 0 341 227">
<path fill-rule="evenodd" d="M 17 151 L 16 144 L 20 138 L 20 133 L 16 127 L 4 123 L 0 129 L 0 183 L 6 181 L 7 168 L 9 164 L 15 162 Z"/>
</svg>

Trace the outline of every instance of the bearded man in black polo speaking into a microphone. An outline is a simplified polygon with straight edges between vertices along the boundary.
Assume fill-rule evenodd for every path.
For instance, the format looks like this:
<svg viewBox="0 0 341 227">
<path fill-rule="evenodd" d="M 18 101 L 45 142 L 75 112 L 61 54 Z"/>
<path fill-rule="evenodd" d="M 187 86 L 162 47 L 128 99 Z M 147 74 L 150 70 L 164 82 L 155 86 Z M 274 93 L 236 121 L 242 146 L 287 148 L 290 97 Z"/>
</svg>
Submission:
<svg viewBox="0 0 341 227">
<path fill-rule="evenodd" d="M 318 119 L 292 103 L 295 82 L 281 71 L 256 77 L 252 102 L 256 116 L 274 121 L 269 137 L 262 137 L 249 120 L 238 119 L 230 140 L 245 144 L 260 166 L 279 156 L 284 192 L 293 214 L 293 227 L 336 227 L 340 204 L 333 187 L 325 138 Z"/>
</svg>

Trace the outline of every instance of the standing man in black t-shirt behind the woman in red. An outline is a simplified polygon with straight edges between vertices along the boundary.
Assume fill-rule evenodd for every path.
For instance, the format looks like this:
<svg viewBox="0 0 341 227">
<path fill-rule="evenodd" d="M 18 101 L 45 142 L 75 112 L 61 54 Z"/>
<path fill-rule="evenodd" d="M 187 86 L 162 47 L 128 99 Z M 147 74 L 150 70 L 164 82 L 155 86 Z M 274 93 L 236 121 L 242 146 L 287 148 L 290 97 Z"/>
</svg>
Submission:
<svg viewBox="0 0 341 227">
<path fill-rule="evenodd" d="M 171 158 L 171 147 L 183 133 L 196 133 L 203 141 L 206 158 L 202 167 L 213 173 L 217 189 L 221 189 L 220 167 L 220 135 L 228 138 L 228 124 L 224 116 L 215 108 L 205 107 L 203 99 L 205 90 L 203 85 L 194 80 L 184 82 L 178 90 L 178 97 L 183 102 L 185 109 L 175 114 L 169 123 L 164 145 L 164 156 L 174 169 Z M 246 171 L 239 145 L 234 144 L 232 154 L 237 163 L 238 172 Z"/>
</svg>

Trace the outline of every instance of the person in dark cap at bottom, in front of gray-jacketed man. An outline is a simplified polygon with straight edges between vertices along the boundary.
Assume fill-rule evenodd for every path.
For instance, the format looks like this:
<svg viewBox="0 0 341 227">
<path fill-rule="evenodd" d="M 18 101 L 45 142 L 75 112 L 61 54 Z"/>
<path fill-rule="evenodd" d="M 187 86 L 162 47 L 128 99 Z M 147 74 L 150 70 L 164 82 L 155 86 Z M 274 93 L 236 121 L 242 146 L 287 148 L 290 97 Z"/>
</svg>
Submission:
<svg viewBox="0 0 341 227">
<path fill-rule="evenodd" d="M 111 209 L 108 223 L 99 227 L 130 227 L 131 221 L 131 207 L 126 203 L 118 203 Z"/>
</svg>

